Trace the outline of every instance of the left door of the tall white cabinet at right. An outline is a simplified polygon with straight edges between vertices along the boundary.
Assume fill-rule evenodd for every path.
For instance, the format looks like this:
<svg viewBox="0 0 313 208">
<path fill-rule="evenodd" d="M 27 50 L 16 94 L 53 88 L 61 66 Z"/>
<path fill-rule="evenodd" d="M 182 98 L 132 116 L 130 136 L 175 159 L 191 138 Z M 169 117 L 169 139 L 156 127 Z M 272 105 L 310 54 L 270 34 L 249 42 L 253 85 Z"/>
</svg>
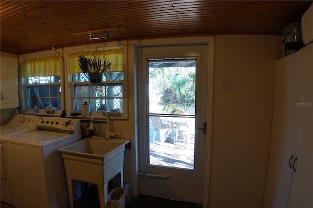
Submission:
<svg viewBox="0 0 313 208">
<path fill-rule="evenodd" d="M 294 54 L 290 55 L 294 56 Z M 298 73 L 291 57 L 275 62 L 272 135 L 263 208 L 287 208 L 295 155 Z"/>
</svg>

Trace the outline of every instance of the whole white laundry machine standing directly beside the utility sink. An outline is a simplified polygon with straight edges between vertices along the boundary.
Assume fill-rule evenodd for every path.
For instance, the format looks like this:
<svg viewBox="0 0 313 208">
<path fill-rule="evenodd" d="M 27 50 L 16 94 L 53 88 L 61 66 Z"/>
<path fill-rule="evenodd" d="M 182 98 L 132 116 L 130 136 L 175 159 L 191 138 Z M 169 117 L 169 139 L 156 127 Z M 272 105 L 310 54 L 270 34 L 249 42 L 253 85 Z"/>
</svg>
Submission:
<svg viewBox="0 0 313 208">
<path fill-rule="evenodd" d="M 80 120 L 43 117 L 37 130 L 3 139 L 15 208 L 68 208 L 66 174 L 58 148 L 81 140 Z"/>
</svg>

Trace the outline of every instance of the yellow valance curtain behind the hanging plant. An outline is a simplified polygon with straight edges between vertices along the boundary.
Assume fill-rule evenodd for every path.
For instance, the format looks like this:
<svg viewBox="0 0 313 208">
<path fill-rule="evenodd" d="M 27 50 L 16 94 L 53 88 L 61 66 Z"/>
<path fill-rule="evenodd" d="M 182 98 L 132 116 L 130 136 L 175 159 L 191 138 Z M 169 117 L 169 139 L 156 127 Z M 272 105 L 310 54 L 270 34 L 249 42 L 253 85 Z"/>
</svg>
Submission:
<svg viewBox="0 0 313 208">
<path fill-rule="evenodd" d="M 111 71 L 122 72 L 123 71 L 123 47 L 110 48 L 104 50 L 85 50 L 69 53 L 69 74 L 82 73 L 79 67 L 78 56 L 84 55 L 86 58 L 93 59 L 95 56 L 104 56 L 107 62 L 111 62 Z"/>
</svg>

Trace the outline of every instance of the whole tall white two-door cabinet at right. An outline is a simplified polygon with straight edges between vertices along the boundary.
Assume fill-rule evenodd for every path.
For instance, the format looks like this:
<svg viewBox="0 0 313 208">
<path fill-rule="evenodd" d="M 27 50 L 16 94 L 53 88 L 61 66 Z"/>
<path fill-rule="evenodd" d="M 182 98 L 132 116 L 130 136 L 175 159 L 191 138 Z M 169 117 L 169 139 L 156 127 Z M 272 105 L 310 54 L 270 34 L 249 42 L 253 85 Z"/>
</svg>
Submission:
<svg viewBox="0 0 313 208">
<path fill-rule="evenodd" d="M 313 208 L 313 44 L 275 62 L 263 208 Z"/>
</svg>

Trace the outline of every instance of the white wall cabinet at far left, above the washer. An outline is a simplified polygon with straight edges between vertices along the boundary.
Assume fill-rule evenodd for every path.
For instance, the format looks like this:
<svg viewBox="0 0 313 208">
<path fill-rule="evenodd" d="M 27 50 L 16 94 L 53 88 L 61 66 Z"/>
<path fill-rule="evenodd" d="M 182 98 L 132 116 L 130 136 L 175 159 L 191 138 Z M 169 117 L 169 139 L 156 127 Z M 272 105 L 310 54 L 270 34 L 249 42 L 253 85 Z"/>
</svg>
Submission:
<svg viewBox="0 0 313 208">
<path fill-rule="evenodd" d="M 18 107 L 18 60 L 0 57 L 0 62 L 0 109 Z"/>
</svg>

